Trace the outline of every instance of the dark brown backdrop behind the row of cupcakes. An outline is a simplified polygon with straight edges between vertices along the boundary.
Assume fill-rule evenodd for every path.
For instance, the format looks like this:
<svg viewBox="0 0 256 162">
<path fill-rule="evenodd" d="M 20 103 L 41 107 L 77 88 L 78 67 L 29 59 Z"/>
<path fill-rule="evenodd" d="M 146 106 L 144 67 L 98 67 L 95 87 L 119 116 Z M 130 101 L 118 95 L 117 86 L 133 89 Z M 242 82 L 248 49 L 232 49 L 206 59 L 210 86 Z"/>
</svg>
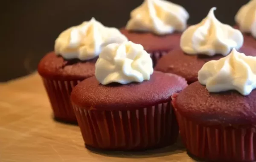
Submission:
<svg viewBox="0 0 256 162">
<path fill-rule="evenodd" d="M 249 0 L 170 0 L 200 22 L 213 6 L 221 22 L 234 25 L 238 9 Z M 61 31 L 95 17 L 106 26 L 125 26 L 130 11 L 143 0 L 1 0 L 0 81 L 36 70 L 38 61 L 53 49 Z"/>
</svg>

